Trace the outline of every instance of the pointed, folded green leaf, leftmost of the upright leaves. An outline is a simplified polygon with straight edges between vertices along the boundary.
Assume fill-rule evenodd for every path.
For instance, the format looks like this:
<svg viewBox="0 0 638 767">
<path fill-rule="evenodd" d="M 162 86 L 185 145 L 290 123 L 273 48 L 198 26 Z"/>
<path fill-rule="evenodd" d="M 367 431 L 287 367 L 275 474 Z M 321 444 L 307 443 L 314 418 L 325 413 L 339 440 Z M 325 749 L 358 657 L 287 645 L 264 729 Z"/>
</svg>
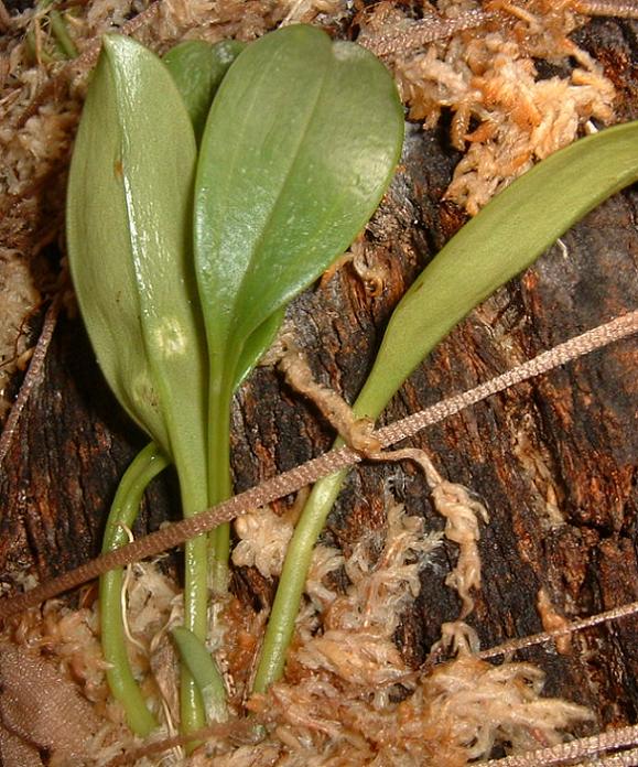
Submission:
<svg viewBox="0 0 638 767">
<path fill-rule="evenodd" d="M 71 166 L 71 269 L 110 387 L 182 464 L 205 445 L 207 360 L 191 249 L 195 160 L 166 68 L 133 40 L 107 36 Z"/>
</svg>

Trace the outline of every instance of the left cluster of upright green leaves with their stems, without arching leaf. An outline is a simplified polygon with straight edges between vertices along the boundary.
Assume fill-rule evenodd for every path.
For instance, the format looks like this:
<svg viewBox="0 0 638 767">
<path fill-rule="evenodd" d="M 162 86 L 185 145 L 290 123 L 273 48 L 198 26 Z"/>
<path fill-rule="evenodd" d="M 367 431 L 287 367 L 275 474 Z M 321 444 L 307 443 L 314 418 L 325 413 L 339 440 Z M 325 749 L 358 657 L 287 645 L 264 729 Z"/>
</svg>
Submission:
<svg viewBox="0 0 638 767">
<path fill-rule="evenodd" d="M 402 130 L 382 65 L 316 29 L 289 26 L 245 50 L 185 43 L 165 65 L 132 40 L 105 39 L 69 174 L 69 262 L 102 372 L 153 440 L 122 480 L 107 549 L 160 463 L 175 465 L 185 516 L 230 495 L 233 393 L 290 300 L 372 215 Z M 185 733 L 226 715 L 213 659 L 202 659 L 208 588 L 226 590 L 227 526 L 212 548 L 210 579 L 206 538 L 185 551 L 175 636 Z M 121 573 L 102 580 L 105 653 L 115 694 L 145 734 L 154 720 L 128 665 L 120 584 Z"/>
</svg>

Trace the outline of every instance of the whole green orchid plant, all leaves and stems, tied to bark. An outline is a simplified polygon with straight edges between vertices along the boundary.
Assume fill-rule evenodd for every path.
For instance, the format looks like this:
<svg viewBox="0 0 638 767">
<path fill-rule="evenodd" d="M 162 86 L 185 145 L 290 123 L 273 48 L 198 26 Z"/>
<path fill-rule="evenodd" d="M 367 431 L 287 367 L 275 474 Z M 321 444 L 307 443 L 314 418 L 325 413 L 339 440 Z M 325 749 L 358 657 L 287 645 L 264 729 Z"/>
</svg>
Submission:
<svg viewBox="0 0 638 767">
<path fill-rule="evenodd" d="M 164 61 L 105 39 L 74 151 L 69 262 L 104 375 L 152 442 L 125 474 L 105 550 L 127 541 L 149 482 L 174 464 L 183 512 L 229 497 L 233 395 L 285 307 L 365 227 L 398 162 L 403 112 L 367 51 L 296 25 L 248 46 L 188 42 Z M 638 177 L 638 123 L 583 139 L 499 194 L 403 296 L 354 404 L 377 419 L 432 348 L 572 224 Z M 255 691 L 283 672 L 312 549 L 346 473 L 318 482 L 290 543 Z M 185 550 L 182 728 L 227 717 L 206 650 L 229 531 Z M 100 583 L 108 680 L 131 728 L 156 721 L 129 666 L 122 573 Z"/>
</svg>

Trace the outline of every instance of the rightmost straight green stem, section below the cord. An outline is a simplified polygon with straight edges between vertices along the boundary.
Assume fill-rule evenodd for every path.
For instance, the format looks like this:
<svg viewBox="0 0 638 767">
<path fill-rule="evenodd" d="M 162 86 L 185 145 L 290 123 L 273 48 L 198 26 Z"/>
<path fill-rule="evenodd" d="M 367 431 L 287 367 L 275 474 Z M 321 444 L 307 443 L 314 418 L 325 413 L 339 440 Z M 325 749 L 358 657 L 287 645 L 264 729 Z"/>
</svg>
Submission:
<svg viewBox="0 0 638 767">
<path fill-rule="evenodd" d="M 253 692 L 266 692 L 283 673 L 313 548 L 347 474 L 347 469 L 344 469 L 320 479 L 304 506 L 285 554 L 255 676 Z"/>
</svg>

